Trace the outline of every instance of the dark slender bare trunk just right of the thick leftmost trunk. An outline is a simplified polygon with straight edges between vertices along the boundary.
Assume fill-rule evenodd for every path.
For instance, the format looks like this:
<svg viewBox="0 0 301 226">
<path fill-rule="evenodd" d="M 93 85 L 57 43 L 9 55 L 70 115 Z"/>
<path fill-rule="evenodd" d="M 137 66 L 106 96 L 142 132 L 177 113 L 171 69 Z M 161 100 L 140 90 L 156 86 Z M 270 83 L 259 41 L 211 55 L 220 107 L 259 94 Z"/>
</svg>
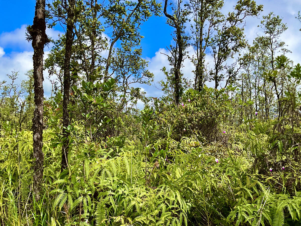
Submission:
<svg viewBox="0 0 301 226">
<path fill-rule="evenodd" d="M 66 45 L 65 45 L 65 58 L 64 58 L 64 96 L 63 96 L 63 127 L 68 127 L 70 124 L 70 116 L 68 104 L 70 101 L 70 60 L 72 53 L 72 44 L 73 44 L 73 27 L 74 27 L 74 7 L 76 0 L 70 0 L 69 7 L 67 10 L 67 31 L 66 31 Z M 69 139 L 68 133 L 63 128 L 63 133 L 65 140 L 62 146 L 62 163 L 61 171 L 67 168 L 68 166 L 68 151 L 69 151 Z"/>
</svg>

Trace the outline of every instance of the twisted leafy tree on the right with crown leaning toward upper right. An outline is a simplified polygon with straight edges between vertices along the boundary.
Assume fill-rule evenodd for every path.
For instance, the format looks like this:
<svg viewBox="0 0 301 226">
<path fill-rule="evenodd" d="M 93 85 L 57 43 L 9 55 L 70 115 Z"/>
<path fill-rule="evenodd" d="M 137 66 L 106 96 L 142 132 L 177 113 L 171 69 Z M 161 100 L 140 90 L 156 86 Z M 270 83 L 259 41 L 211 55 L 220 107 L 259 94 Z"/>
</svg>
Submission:
<svg viewBox="0 0 301 226">
<path fill-rule="evenodd" d="M 216 35 L 211 39 L 212 56 L 214 59 L 213 79 L 215 89 L 221 81 L 226 79 L 227 86 L 236 79 L 240 67 L 238 61 L 231 64 L 228 59 L 234 59 L 235 55 L 247 46 L 244 36 L 245 19 L 249 16 L 258 16 L 263 5 L 256 5 L 255 1 L 239 0 L 234 12 L 229 12 L 227 17 L 216 28 Z M 227 78 L 226 78 L 227 75 Z"/>
</svg>

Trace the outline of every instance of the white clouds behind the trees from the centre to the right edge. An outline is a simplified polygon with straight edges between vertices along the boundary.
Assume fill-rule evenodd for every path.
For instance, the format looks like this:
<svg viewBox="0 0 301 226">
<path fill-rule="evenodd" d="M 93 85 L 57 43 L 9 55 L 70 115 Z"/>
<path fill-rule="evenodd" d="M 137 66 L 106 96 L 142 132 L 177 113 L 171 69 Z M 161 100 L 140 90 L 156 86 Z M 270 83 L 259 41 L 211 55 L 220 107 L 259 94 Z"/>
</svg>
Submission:
<svg viewBox="0 0 301 226">
<path fill-rule="evenodd" d="M 227 14 L 228 11 L 233 11 L 233 6 L 236 4 L 236 2 L 237 1 L 234 0 L 225 1 L 225 6 L 222 8 L 222 13 Z M 257 4 L 264 5 L 264 12 L 262 12 L 258 18 L 248 17 L 246 20 L 245 35 L 249 41 L 249 44 L 252 45 L 253 40 L 257 35 L 264 35 L 261 28 L 258 27 L 260 21 L 262 20 L 262 15 L 267 15 L 270 11 L 274 11 L 276 15 L 283 17 L 283 22 L 287 23 L 288 26 L 287 31 L 285 31 L 281 36 L 281 39 L 287 45 L 287 49 L 292 51 L 292 53 L 288 53 L 287 56 L 294 61 L 294 64 L 301 63 L 301 52 L 299 51 L 301 49 L 301 32 L 299 31 L 301 28 L 301 23 L 299 23 L 299 21 L 295 18 L 295 16 L 298 14 L 298 11 L 301 10 L 301 2 L 299 0 L 286 0 L 283 2 L 278 2 L 281 7 L 279 7 L 279 4 L 275 4 L 273 1 L 259 0 L 256 2 Z M 187 26 L 186 32 L 189 32 L 188 27 L 190 26 Z M 155 86 L 158 87 L 158 81 L 162 79 L 165 80 L 165 75 L 162 71 L 160 71 L 160 69 L 163 66 L 165 66 L 167 69 L 170 69 L 170 66 L 166 55 L 163 55 L 160 52 L 169 55 L 169 51 L 167 49 L 160 48 L 155 53 L 154 57 L 146 58 L 149 61 L 149 71 L 154 73 L 153 85 L 151 87 L 143 86 L 147 91 L 147 96 L 159 97 L 163 94 L 163 92 L 160 89 L 156 89 Z M 190 56 L 194 54 L 194 51 L 191 47 L 188 48 L 188 52 Z M 208 53 L 205 58 L 209 68 L 213 68 L 214 61 L 211 54 Z M 231 59 L 229 59 L 228 62 L 231 63 Z M 186 59 L 183 62 L 183 66 L 182 72 L 184 77 L 193 79 L 194 74 L 191 71 L 194 70 L 194 65 L 189 61 L 189 59 Z M 206 85 L 209 87 L 214 87 L 215 84 L 213 81 L 207 82 Z"/>
</svg>

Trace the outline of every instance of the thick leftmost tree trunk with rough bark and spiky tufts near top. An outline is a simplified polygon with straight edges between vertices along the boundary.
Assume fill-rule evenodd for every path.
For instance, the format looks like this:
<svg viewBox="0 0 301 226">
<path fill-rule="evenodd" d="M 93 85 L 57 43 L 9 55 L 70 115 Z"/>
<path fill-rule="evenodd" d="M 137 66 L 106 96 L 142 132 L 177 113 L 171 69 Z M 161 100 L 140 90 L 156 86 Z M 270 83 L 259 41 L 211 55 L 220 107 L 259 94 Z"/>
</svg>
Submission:
<svg viewBox="0 0 301 226">
<path fill-rule="evenodd" d="M 44 46 L 50 41 L 46 35 L 45 0 L 36 1 L 33 25 L 27 27 L 27 32 L 27 40 L 32 40 L 33 46 L 33 79 L 35 93 L 35 109 L 33 114 L 33 157 L 35 159 L 33 166 L 33 193 L 35 194 L 35 199 L 39 200 L 42 190 L 44 164 L 44 154 L 42 151 L 44 108 L 43 56 Z"/>
</svg>

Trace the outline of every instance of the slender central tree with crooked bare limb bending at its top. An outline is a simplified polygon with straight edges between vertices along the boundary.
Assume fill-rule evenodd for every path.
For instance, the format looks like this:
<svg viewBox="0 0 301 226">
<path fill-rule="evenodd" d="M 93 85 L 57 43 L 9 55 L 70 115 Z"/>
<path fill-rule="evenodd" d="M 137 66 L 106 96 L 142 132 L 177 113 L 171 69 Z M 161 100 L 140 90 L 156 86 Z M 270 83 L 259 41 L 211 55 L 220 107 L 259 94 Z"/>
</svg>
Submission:
<svg viewBox="0 0 301 226">
<path fill-rule="evenodd" d="M 164 15 L 167 17 L 167 24 L 175 28 L 173 39 L 175 46 L 170 45 L 168 56 L 169 64 L 172 66 L 170 73 L 173 74 L 172 84 L 174 85 L 174 99 L 175 104 L 178 105 L 181 96 L 181 66 L 182 62 L 187 57 L 187 47 L 189 37 L 185 34 L 185 23 L 188 20 L 189 11 L 183 9 L 182 0 L 178 0 L 175 6 L 172 7 L 173 15 L 167 13 L 168 0 L 165 0 Z"/>
</svg>

